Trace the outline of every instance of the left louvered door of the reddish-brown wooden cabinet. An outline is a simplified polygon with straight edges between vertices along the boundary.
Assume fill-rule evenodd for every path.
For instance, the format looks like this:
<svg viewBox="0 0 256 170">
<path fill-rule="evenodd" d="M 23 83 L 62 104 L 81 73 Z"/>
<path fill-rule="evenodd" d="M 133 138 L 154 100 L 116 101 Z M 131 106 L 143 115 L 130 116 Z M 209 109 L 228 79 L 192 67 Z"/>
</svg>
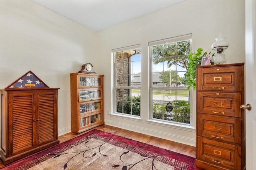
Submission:
<svg viewBox="0 0 256 170">
<path fill-rule="evenodd" d="M 35 107 L 34 93 L 10 94 L 9 109 L 9 146 L 11 154 L 16 155 L 35 147 Z"/>
</svg>

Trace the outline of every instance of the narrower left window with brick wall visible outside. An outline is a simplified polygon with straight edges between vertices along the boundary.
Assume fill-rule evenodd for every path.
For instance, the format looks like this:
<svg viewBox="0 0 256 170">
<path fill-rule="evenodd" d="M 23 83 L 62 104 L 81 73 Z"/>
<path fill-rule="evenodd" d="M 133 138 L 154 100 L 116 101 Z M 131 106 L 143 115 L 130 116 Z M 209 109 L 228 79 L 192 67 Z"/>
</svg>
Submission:
<svg viewBox="0 0 256 170">
<path fill-rule="evenodd" d="M 115 112 L 140 116 L 140 45 L 115 49 Z"/>
</svg>

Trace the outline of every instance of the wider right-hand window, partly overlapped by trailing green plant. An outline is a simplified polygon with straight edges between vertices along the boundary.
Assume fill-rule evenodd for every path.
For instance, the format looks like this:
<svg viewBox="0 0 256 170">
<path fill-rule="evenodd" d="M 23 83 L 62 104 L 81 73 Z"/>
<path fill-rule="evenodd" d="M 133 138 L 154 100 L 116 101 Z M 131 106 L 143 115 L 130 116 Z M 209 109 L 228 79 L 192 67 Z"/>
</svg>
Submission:
<svg viewBox="0 0 256 170">
<path fill-rule="evenodd" d="M 190 91 L 184 83 L 192 35 L 149 43 L 150 118 L 190 125 Z"/>
</svg>

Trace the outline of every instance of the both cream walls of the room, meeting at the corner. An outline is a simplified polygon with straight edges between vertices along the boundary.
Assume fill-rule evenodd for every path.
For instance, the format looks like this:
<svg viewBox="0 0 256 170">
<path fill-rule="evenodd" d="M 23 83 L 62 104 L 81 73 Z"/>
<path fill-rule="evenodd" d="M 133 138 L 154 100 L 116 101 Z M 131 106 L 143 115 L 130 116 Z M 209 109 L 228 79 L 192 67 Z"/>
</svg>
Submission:
<svg viewBox="0 0 256 170">
<path fill-rule="evenodd" d="M 225 51 L 227 63 L 241 63 L 245 60 L 244 13 L 243 0 L 186 0 L 95 32 L 30 0 L 0 0 L 0 88 L 6 88 L 28 70 L 51 88 L 60 88 L 58 135 L 62 135 L 70 132 L 70 73 L 90 62 L 98 74 L 104 74 L 106 124 L 195 145 L 194 131 L 146 121 L 148 42 L 192 33 L 193 51 L 199 47 L 211 51 L 221 32 L 230 42 Z M 113 111 L 111 50 L 135 44 L 141 44 L 143 63 L 141 121 L 107 114 Z M 195 117 L 195 107 L 192 115 Z"/>
</svg>

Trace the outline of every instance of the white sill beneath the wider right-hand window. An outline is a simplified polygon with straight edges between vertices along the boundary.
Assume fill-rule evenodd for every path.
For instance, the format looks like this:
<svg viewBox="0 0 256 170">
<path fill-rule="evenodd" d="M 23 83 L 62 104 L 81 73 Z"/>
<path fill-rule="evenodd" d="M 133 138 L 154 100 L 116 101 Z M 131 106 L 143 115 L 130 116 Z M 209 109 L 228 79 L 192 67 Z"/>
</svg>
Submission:
<svg viewBox="0 0 256 170">
<path fill-rule="evenodd" d="M 158 125 L 158 126 L 164 126 L 164 127 L 171 127 L 174 129 L 180 129 L 184 131 L 190 131 L 195 132 L 196 129 L 191 125 L 181 125 L 176 123 L 169 123 L 169 122 L 163 122 L 163 121 L 157 121 L 157 120 L 146 120 L 147 123 L 150 123 L 152 125 Z"/>
</svg>

